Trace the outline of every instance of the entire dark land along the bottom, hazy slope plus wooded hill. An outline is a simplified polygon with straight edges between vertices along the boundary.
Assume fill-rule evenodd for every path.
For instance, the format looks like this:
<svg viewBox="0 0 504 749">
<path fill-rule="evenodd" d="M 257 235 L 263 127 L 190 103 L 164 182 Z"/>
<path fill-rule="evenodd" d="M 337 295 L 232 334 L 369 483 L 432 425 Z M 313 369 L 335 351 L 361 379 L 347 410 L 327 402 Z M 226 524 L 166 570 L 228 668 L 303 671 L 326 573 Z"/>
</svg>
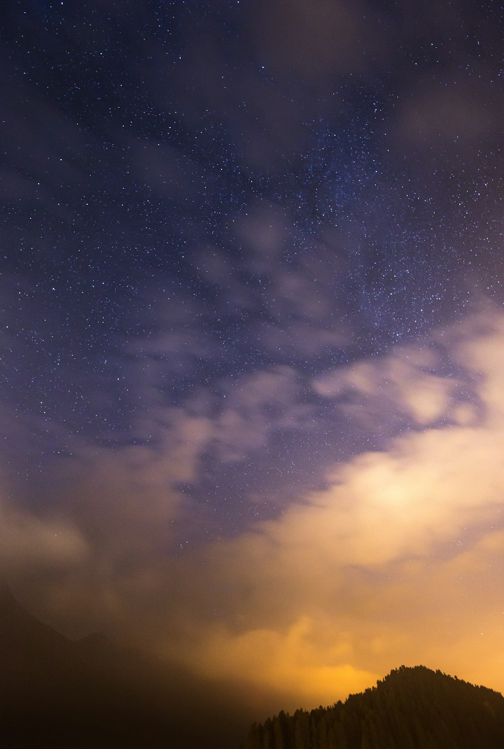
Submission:
<svg viewBox="0 0 504 749">
<path fill-rule="evenodd" d="M 400 667 L 345 703 L 251 724 L 239 692 L 96 634 L 74 642 L 0 582 L 1 749 L 504 749 L 504 697 Z"/>
</svg>

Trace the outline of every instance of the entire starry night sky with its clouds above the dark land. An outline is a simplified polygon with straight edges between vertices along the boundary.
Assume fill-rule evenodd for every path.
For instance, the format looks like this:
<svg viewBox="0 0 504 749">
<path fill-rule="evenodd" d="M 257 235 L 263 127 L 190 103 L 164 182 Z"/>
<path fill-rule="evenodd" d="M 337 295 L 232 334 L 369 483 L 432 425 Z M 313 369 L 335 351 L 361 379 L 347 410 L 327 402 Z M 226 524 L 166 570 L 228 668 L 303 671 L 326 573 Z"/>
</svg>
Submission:
<svg viewBox="0 0 504 749">
<path fill-rule="evenodd" d="M 2 4 L 0 562 L 37 616 L 257 718 L 402 663 L 504 689 L 502 31 Z"/>
</svg>

